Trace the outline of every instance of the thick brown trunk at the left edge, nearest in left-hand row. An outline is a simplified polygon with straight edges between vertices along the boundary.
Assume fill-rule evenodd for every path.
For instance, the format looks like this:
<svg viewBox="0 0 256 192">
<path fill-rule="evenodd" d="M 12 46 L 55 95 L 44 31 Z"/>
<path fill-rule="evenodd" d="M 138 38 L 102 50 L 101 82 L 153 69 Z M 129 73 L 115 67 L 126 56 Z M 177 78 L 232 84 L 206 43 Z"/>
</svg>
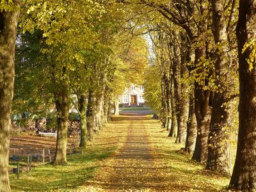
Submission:
<svg viewBox="0 0 256 192">
<path fill-rule="evenodd" d="M 13 1 L 16 6 L 19 1 Z M 19 12 L 0 10 L 0 191 L 11 191 L 8 178 L 10 114 L 12 111 L 14 56 Z"/>
</svg>

